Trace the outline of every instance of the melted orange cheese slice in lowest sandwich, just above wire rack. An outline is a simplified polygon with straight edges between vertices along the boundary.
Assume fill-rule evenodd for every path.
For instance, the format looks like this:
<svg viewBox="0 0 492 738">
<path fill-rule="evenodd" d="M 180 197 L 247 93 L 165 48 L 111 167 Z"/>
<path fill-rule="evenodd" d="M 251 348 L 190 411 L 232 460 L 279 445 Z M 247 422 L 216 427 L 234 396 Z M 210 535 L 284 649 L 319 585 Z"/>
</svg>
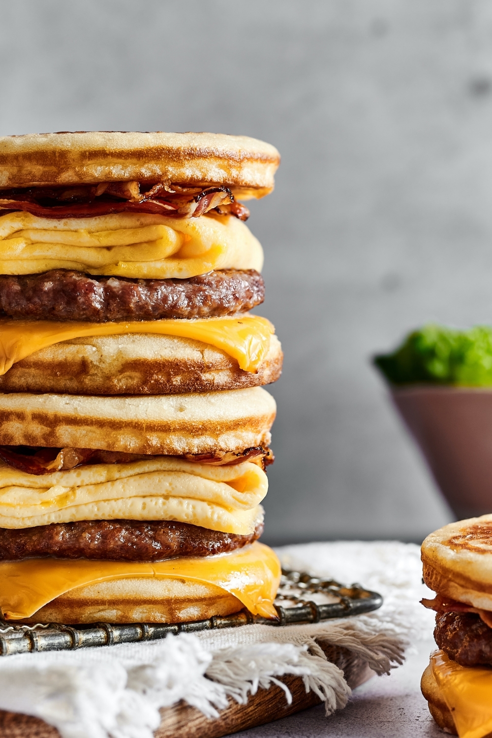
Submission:
<svg viewBox="0 0 492 738">
<path fill-rule="evenodd" d="M 240 600 L 254 615 L 276 617 L 273 601 L 280 582 L 280 562 L 262 543 L 218 556 L 180 556 L 140 563 L 75 559 L 23 559 L 0 562 L 0 608 L 7 619 L 29 618 L 41 607 L 86 584 L 157 577 L 206 582 Z"/>
</svg>

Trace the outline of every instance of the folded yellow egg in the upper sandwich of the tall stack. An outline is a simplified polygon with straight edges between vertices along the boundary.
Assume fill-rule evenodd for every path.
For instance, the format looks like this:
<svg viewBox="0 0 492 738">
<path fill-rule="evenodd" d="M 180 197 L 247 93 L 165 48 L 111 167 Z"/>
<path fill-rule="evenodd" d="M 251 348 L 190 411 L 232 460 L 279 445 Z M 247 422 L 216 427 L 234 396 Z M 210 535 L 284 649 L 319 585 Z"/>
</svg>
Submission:
<svg viewBox="0 0 492 738">
<path fill-rule="evenodd" d="M 168 279 L 212 269 L 256 269 L 263 251 L 249 228 L 228 215 L 166 218 L 115 213 L 95 218 L 0 217 L 0 274 L 77 269 L 91 275 Z"/>
</svg>

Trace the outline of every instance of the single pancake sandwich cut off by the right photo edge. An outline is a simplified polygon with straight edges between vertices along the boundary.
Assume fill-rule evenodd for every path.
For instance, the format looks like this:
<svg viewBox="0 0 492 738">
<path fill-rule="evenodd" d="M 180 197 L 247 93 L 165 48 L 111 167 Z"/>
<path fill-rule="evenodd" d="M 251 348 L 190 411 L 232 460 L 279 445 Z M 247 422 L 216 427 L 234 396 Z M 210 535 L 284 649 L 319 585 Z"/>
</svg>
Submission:
<svg viewBox="0 0 492 738">
<path fill-rule="evenodd" d="M 429 535 L 422 545 L 423 579 L 434 599 L 439 650 L 421 687 L 440 728 L 460 738 L 492 734 L 492 515 Z"/>
</svg>

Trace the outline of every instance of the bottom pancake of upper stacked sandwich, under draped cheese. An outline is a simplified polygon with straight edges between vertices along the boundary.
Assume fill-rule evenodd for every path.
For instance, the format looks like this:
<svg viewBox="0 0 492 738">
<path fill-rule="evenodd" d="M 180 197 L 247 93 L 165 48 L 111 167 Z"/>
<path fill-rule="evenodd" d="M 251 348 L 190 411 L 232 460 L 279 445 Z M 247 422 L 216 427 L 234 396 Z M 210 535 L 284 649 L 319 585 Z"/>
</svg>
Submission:
<svg viewBox="0 0 492 738">
<path fill-rule="evenodd" d="M 220 348 L 157 334 L 76 338 L 42 348 L 0 376 L 0 392 L 154 395 L 239 390 L 275 382 L 283 353 L 277 336 L 257 373 Z"/>
</svg>

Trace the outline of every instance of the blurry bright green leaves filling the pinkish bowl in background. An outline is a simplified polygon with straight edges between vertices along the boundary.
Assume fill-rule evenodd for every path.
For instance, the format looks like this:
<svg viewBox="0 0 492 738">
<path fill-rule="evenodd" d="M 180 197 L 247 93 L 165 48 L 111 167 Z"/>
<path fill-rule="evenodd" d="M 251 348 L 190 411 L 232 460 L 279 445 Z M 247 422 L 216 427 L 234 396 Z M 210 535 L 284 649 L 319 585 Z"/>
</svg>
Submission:
<svg viewBox="0 0 492 738">
<path fill-rule="evenodd" d="M 492 327 L 468 331 L 424 325 L 392 354 L 374 357 L 390 384 L 492 386 Z"/>
</svg>

